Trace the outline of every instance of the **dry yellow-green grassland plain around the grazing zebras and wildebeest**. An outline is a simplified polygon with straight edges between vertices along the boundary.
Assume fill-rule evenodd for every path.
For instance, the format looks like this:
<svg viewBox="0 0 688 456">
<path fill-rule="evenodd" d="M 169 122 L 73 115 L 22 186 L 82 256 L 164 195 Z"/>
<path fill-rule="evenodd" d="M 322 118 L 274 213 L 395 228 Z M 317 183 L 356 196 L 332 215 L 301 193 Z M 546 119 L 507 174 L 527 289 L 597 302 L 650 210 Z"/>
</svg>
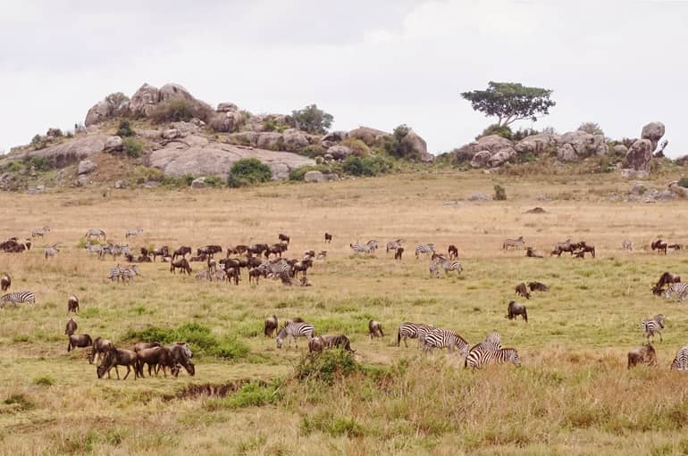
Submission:
<svg viewBox="0 0 688 456">
<path fill-rule="evenodd" d="M 507 201 L 465 201 L 491 194 L 494 184 L 506 187 Z M 33 307 L 0 312 L 0 453 L 688 453 L 688 377 L 668 370 L 688 344 L 686 304 L 650 293 L 665 270 L 688 276 L 688 256 L 649 249 L 656 236 L 688 240 L 688 206 L 609 197 L 627 187 L 611 175 L 446 172 L 106 197 L 88 189 L 0 194 L 0 237 L 52 228 L 29 253 L 0 254 L 12 290 L 37 294 Z M 524 213 L 535 205 L 548 213 Z M 89 257 L 80 240 L 88 228 L 103 228 L 122 242 L 135 227 L 144 228 L 130 240 L 137 248 L 276 242 L 282 232 L 292 239 L 289 256 L 306 249 L 328 256 L 309 272 L 309 288 L 249 286 L 245 275 L 239 286 L 197 283 L 162 263 L 142 264 L 130 286 L 110 283 L 115 262 Z M 325 231 L 331 245 L 323 244 Z M 504 238 L 521 235 L 544 253 L 567 237 L 584 239 L 598 258 L 538 260 L 501 250 Z M 399 237 L 407 243 L 400 262 L 384 249 L 372 258 L 348 249 Z M 633 253 L 620 249 L 624 238 Z M 464 273 L 429 278 L 427 259 L 415 260 L 416 242 L 457 245 Z M 62 249 L 46 261 L 42 247 L 53 243 Z M 550 292 L 526 302 L 527 324 L 508 321 L 514 286 L 529 280 Z M 190 334 L 200 348 L 196 377 L 98 380 L 86 352 L 66 352 L 69 294 L 80 298 L 79 332 L 119 346 L 141 335 Z M 642 344 L 641 319 L 659 312 L 667 315 L 664 341 L 655 344 L 659 368 L 627 371 L 625 353 Z M 263 319 L 273 313 L 303 317 L 319 334 L 347 334 L 358 369 L 334 382 L 298 380 L 306 344 L 280 351 L 264 338 Z M 382 321 L 383 340 L 368 339 L 371 318 Z M 398 348 L 396 327 L 407 320 L 453 328 L 469 343 L 499 331 L 524 366 L 471 372 L 456 354 Z M 223 399 L 175 396 L 191 384 L 243 378 L 267 385 Z"/>
</svg>

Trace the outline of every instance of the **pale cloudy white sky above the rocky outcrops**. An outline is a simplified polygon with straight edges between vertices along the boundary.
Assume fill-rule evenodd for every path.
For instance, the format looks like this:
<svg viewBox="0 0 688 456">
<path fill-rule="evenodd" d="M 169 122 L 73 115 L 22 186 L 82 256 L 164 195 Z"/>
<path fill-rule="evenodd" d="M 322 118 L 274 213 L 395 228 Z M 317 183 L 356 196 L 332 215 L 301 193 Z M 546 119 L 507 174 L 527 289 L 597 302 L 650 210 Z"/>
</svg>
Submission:
<svg viewBox="0 0 688 456">
<path fill-rule="evenodd" d="M 490 80 L 554 90 L 534 124 L 583 121 L 612 138 L 667 126 L 688 153 L 688 3 L 348 0 L 6 1 L 0 8 L 0 151 L 71 129 L 105 95 L 176 82 L 215 105 L 289 113 L 315 103 L 333 129 L 415 129 L 432 153 L 491 123 L 460 98 Z"/>
</svg>

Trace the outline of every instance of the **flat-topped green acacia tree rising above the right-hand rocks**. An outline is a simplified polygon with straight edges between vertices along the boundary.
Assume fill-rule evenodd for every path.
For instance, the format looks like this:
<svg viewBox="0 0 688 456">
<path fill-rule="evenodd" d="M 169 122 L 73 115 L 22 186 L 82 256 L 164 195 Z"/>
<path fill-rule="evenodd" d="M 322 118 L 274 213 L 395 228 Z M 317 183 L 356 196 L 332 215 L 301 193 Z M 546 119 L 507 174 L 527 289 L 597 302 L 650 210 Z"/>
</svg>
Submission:
<svg viewBox="0 0 688 456">
<path fill-rule="evenodd" d="M 516 120 L 538 120 L 547 115 L 556 103 L 550 100 L 551 90 L 525 87 L 516 82 L 490 81 L 487 90 L 464 92 L 461 97 L 471 102 L 475 111 L 486 116 L 497 116 L 499 126 L 507 126 Z"/>
</svg>

